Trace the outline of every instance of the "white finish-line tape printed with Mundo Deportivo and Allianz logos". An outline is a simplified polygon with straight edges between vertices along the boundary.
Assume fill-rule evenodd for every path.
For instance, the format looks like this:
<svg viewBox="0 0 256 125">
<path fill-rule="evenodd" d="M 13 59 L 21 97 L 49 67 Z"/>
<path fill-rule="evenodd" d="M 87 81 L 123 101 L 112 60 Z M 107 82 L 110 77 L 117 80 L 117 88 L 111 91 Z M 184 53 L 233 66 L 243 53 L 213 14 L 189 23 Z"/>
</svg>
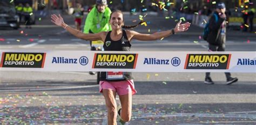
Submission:
<svg viewBox="0 0 256 125">
<path fill-rule="evenodd" d="M 0 50 L 0 59 L 0 71 L 256 71 L 255 52 Z"/>
</svg>

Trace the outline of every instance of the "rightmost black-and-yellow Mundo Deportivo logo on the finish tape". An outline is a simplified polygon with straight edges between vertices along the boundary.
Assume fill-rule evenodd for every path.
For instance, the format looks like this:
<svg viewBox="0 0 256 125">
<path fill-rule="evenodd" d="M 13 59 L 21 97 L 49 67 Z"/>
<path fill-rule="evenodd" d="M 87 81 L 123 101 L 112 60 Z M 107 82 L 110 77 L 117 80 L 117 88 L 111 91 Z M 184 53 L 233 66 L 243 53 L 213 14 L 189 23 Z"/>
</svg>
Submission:
<svg viewBox="0 0 256 125">
<path fill-rule="evenodd" d="M 184 69 L 228 70 L 231 54 L 187 54 Z"/>
</svg>

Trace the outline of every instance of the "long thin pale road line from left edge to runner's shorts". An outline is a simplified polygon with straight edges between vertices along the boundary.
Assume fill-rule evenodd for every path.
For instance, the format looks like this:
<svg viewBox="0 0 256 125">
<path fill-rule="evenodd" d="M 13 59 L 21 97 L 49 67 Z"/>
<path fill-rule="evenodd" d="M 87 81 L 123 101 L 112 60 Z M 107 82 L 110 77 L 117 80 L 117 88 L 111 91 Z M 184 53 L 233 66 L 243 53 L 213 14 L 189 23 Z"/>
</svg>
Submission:
<svg viewBox="0 0 256 125">
<path fill-rule="evenodd" d="M 63 89 L 77 89 L 77 88 L 90 88 L 98 87 L 99 85 L 89 85 L 89 86 L 78 86 L 78 87 L 62 87 L 62 88 L 38 88 L 38 89 L 12 89 L 12 90 L 0 90 L 0 92 L 24 92 L 24 91 L 57 91 Z"/>
</svg>

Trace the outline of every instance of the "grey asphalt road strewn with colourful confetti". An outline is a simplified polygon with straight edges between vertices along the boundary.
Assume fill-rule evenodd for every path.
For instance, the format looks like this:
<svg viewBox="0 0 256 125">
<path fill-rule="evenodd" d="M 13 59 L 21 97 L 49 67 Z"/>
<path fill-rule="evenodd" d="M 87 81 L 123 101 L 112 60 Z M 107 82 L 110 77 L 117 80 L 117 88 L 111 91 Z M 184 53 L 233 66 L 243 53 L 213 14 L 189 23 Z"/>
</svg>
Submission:
<svg viewBox="0 0 256 125">
<path fill-rule="evenodd" d="M 138 16 L 125 15 L 127 25 Z M 136 31 L 150 33 L 174 27 L 173 20 L 148 15 L 151 24 Z M 72 24 L 72 17 L 64 16 Z M 23 31 L 23 33 L 21 33 Z M 132 41 L 132 51 L 207 51 L 199 39 L 203 29 L 157 41 Z M 226 51 L 255 51 L 255 33 L 228 31 Z M 90 50 L 89 42 L 41 20 L 32 29 L 0 30 L 1 50 Z M 224 73 L 134 73 L 129 124 L 256 124 L 256 75 L 232 73 L 238 82 L 225 85 Z M 105 124 L 106 108 L 96 75 L 87 72 L 0 72 L 0 122 L 3 124 Z M 118 100 L 118 96 L 117 96 Z M 120 105 L 120 103 L 119 103 Z"/>
</svg>

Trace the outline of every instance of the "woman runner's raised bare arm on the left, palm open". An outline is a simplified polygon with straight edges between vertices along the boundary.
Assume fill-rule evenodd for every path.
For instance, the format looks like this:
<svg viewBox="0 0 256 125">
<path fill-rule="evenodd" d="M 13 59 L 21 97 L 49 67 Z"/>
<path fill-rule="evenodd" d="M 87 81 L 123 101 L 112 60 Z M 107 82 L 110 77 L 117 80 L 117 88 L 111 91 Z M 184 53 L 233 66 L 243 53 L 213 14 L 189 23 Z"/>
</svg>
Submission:
<svg viewBox="0 0 256 125">
<path fill-rule="evenodd" d="M 79 30 L 76 30 L 76 29 L 70 27 L 69 25 L 64 23 L 64 20 L 60 15 L 58 15 L 58 16 L 51 15 L 51 22 L 58 26 L 62 26 L 65 30 L 67 30 L 68 32 L 73 34 L 73 36 L 76 36 L 77 38 L 80 38 L 80 39 L 93 41 L 93 40 L 103 40 L 102 38 L 104 38 L 105 32 L 85 34 Z"/>
</svg>

